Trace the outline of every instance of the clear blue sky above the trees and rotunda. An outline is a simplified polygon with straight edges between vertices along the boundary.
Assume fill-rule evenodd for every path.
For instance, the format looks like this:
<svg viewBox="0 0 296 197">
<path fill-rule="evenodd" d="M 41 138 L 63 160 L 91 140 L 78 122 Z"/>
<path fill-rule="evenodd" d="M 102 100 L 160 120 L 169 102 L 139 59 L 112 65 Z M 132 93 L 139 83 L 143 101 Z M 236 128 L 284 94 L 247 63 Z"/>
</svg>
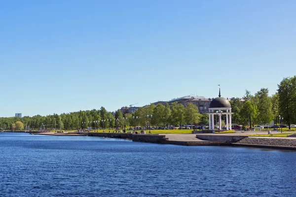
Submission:
<svg viewBox="0 0 296 197">
<path fill-rule="evenodd" d="M 0 117 L 242 97 L 296 74 L 294 0 L 2 0 Z"/>
</svg>

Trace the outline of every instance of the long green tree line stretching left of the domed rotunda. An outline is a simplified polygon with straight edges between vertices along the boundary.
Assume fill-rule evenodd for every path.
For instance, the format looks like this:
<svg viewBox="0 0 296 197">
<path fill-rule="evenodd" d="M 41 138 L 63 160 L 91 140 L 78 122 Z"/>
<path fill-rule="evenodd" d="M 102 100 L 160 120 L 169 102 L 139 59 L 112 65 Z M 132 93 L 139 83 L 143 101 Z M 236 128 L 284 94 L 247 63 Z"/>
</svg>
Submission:
<svg viewBox="0 0 296 197">
<path fill-rule="evenodd" d="M 152 117 L 151 117 L 152 115 Z M 148 118 L 148 117 L 149 118 Z M 122 114 L 120 109 L 111 113 L 105 107 L 99 110 L 92 109 L 86 111 L 78 111 L 71 113 L 63 113 L 61 115 L 53 114 L 48 116 L 36 115 L 33 117 L 1 117 L 1 130 L 39 130 L 39 129 L 57 129 L 57 130 L 76 130 L 88 127 L 108 129 L 123 128 L 135 126 L 152 126 L 162 125 L 183 125 L 186 123 L 207 123 L 207 116 L 201 115 L 197 107 L 189 103 L 186 107 L 177 102 L 171 105 L 158 104 L 154 106 L 150 104 L 141 107 L 133 114 Z"/>
</svg>

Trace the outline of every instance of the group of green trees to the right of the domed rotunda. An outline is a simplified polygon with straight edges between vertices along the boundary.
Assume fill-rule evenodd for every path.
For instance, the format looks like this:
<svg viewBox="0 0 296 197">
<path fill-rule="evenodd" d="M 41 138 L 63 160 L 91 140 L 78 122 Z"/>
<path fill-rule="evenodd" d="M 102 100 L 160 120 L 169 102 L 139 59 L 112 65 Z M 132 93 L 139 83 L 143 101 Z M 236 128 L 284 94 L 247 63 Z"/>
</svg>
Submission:
<svg viewBox="0 0 296 197">
<path fill-rule="evenodd" d="M 230 101 L 233 123 L 251 127 L 274 121 L 275 125 L 287 124 L 289 129 L 296 124 L 296 76 L 284 78 L 272 96 L 268 95 L 267 88 L 261 88 L 255 95 L 246 90 L 244 100 Z"/>
</svg>

